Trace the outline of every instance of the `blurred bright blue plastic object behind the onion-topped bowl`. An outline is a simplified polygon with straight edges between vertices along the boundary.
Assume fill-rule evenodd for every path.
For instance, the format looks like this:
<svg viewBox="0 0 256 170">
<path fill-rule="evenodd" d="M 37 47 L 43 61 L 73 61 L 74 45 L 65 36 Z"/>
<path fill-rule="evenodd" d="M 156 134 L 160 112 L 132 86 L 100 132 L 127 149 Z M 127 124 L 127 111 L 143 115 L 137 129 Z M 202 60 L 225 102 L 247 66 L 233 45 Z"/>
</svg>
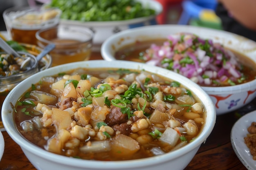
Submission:
<svg viewBox="0 0 256 170">
<path fill-rule="evenodd" d="M 182 14 L 178 24 L 186 25 L 191 18 L 199 18 L 200 12 L 205 9 L 215 10 L 217 0 L 184 0 Z"/>
</svg>

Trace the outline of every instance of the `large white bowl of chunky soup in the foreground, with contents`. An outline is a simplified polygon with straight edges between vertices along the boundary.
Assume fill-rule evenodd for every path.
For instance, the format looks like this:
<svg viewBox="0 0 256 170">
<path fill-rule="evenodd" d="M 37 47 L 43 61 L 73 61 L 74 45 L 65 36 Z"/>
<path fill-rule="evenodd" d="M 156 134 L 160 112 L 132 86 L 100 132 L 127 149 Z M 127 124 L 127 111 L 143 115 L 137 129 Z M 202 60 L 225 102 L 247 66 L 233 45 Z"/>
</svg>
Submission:
<svg viewBox="0 0 256 170">
<path fill-rule="evenodd" d="M 92 60 L 22 81 L 4 100 L 2 121 L 36 169 L 183 170 L 211 134 L 216 110 L 180 74 Z"/>
</svg>

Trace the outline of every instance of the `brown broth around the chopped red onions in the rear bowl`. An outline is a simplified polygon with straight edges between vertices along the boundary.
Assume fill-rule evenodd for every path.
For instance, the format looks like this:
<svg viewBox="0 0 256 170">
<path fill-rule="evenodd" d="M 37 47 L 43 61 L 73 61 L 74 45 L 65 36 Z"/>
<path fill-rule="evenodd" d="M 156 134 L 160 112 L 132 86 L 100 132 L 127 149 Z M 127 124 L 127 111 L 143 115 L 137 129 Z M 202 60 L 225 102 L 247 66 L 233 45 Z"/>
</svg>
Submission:
<svg viewBox="0 0 256 170">
<path fill-rule="evenodd" d="M 150 48 L 151 44 L 157 44 L 162 45 L 162 43 L 166 40 L 150 40 L 150 41 L 137 41 L 134 44 L 128 44 L 121 49 L 119 49 L 115 53 L 115 58 L 117 60 L 128 60 L 128 61 L 134 61 L 134 62 L 145 62 L 142 60 L 139 56 L 140 53 L 145 53 L 147 49 Z M 255 62 L 247 57 L 246 55 L 243 55 L 239 53 L 238 51 L 228 49 L 231 52 L 233 52 L 236 57 L 238 58 L 238 61 L 243 64 L 243 70 L 240 72 L 243 73 L 246 76 L 246 79 L 243 81 L 243 83 L 250 82 L 255 79 L 256 77 L 256 64 Z M 200 84 L 201 86 L 209 86 L 206 84 Z M 210 85 L 212 86 L 212 85 Z M 229 84 L 226 84 L 226 86 L 230 86 Z"/>
</svg>

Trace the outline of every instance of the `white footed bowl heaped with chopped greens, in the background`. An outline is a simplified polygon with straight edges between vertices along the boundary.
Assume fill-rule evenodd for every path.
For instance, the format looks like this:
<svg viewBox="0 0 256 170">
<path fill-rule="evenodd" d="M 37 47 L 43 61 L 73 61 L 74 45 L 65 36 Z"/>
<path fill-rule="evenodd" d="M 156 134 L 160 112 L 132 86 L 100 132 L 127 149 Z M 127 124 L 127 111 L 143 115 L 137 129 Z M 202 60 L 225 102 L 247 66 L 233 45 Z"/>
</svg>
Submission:
<svg viewBox="0 0 256 170">
<path fill-rule="evenodd" d="M 130 28 L 157 24 L 162 5 L 156 0 L 52 0 L 62 10 L 61 24 L 82 25 L 94 32 L 94 50 L 111 35 Z"/>
</svg>

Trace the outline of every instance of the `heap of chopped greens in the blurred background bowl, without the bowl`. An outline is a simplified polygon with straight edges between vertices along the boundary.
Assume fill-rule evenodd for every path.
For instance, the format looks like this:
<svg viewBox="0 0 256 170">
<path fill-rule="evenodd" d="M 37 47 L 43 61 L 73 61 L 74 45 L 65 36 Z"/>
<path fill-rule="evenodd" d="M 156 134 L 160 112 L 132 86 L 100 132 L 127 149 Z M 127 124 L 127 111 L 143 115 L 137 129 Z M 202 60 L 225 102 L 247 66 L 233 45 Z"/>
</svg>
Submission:
<svg viewBox="0 0 256 170">
<path fill-rule="evenodd" d="M 49 6 L 61 9 L 63 19 L 80 21 L 129 20 L 155 14 L 135 0 L 52 0 Z"/>
</svg>

